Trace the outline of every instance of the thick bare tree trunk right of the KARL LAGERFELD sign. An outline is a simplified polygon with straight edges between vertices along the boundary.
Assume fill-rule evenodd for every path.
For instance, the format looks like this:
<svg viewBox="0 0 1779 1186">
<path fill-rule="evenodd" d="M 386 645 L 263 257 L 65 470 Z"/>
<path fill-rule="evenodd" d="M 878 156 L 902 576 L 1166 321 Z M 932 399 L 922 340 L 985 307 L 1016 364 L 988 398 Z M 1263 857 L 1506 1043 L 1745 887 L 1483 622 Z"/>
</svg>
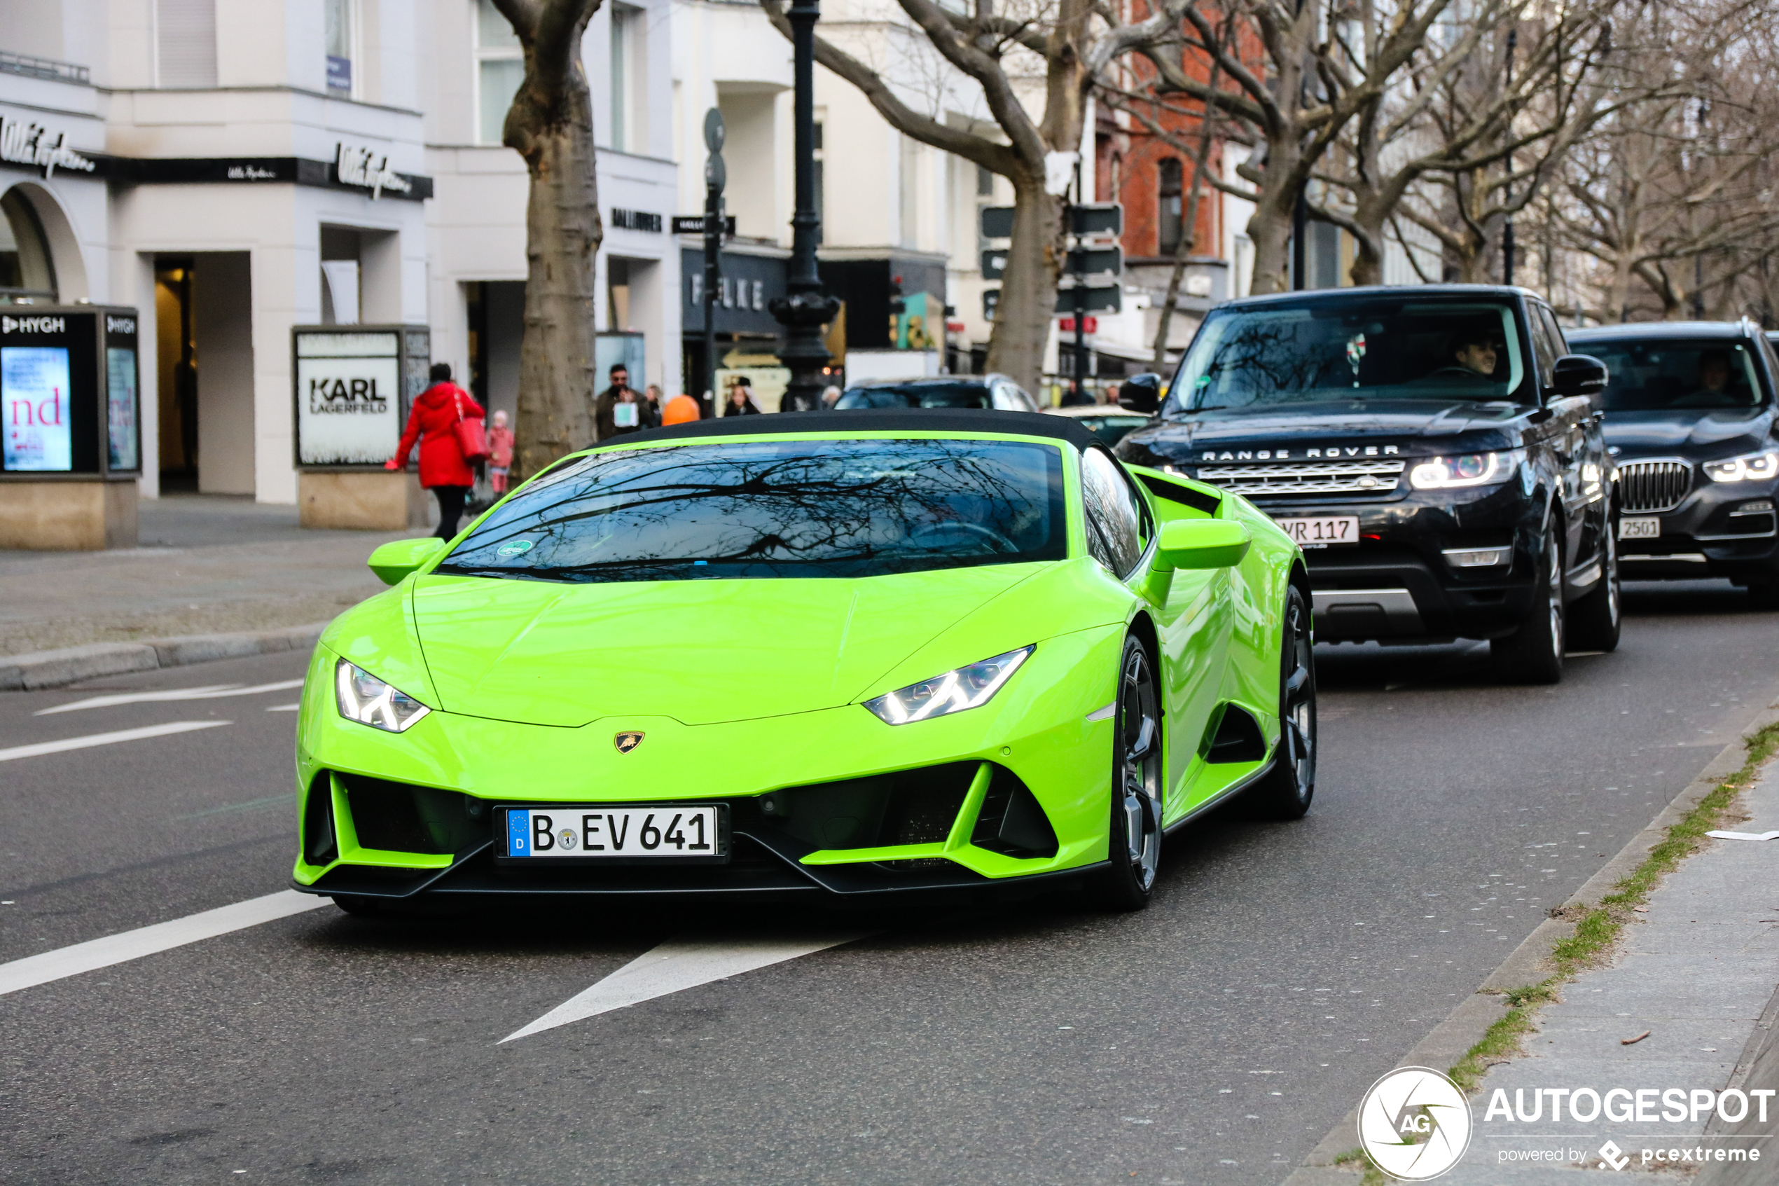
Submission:
<svg viewBox="0 0 1779 1186">
<path fill-rule="evenodd" d="M 580 39 L 600 0 L 495 0 L 525 50 L 502 142 L 530 174 L 525 338 L 512 469 L 525 478 L 594 439 L 594 258 L 600 224 L 592 100 Z"/>
</svg>

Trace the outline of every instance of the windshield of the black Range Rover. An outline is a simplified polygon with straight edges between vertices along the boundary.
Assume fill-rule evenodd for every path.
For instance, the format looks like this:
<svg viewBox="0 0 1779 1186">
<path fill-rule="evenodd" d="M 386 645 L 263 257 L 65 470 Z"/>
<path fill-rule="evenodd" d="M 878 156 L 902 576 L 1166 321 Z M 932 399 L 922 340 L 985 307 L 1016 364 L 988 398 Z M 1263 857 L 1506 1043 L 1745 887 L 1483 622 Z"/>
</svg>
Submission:
<svg viewBox="0 0 1779 1186">
<path fill-rule="evenodd" d="M 1507 301 L 1366 299 L 1211 313 L 1172 414 L 1327 400 L 1501 400 L 1525 365 Z"/>
</svg>

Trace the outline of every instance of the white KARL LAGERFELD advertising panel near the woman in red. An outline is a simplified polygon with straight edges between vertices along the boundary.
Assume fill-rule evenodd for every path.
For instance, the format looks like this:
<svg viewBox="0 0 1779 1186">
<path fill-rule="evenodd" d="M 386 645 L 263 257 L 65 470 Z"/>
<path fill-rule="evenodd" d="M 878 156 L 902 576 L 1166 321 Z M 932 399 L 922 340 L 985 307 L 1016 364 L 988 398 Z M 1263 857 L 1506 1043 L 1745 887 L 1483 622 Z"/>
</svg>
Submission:
<svg viewBox="0 0 1779 1186">
<path fill-rule="evenodd" d="M 297 331 L 297 464 L 381 466 L 402 439 L 402 336 Z"/>
</svg>

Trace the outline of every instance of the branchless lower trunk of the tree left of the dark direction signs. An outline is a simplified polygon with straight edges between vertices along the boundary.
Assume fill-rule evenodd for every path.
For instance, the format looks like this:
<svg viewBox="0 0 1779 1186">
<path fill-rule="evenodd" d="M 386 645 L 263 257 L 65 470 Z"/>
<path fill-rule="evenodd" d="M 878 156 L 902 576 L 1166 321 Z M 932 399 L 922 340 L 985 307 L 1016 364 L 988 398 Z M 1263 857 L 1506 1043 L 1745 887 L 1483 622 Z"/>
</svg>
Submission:
<svg viewBox="0 0 1779 1186">
<path fill-rule="evenodd" d="M 1067 263 L 1062 208 L 1064 199 L 1046 194 L 1041 176 L 1014 178 L 1012 240 L 989 334 L 987 370 L 1009 375 L 1034 395 L 1057 313 L 1057 281 Z"/>
</svg>

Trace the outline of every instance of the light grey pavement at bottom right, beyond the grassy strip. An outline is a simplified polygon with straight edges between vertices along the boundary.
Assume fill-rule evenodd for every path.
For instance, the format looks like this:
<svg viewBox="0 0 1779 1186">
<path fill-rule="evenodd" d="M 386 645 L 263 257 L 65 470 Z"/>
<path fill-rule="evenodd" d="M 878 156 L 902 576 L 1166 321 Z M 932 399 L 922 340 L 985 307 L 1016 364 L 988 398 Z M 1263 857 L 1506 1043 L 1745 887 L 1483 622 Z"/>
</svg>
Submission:
<svg viewBox="0 0 1779 1186">
<path fill-rule="evenodd" d="M 1727 830 L 1779 829 L 1779 763 L 1743 793 L 1742 807 L 1751 818 Z M 1564 985 L 1562 1001 L 1546 1005 L 1537 1030 L 1526 1035 L 1525 1056 L 1489 1069 L 1471 1095 L 1469 1150 L 1441 1182 L 1542 1186 L 1590 1181 L 1587 1174 L 1598 1179 L 1614 1174 L 1601 1154 L 1608 1140 L 1622 1150 L 1612 1161 L 1630 1158 L 1621 1161 L 1626 1174 L 1678 1170 L 1697 1174 L 1701 1186 L 1779 1181 L 1779 1097 L 1767 1097 L 1765 1124 L 1758 1099 L 1740 1126 L 1715 1120 L 1710 1104 L 1697 1118 L 1690 1108 L 1694 1090 L 1703 1101 L 1706 1090 L 1779 1088 L 1779 1056 L 1772 1053 L 1779 1047 L 1772 1028 L 1779 1005 L 1779 841 L 1704 845 L 1651 893 L 1647 912 L 1638 912 L 1626 930 L 1619 958 Z M 1647 1037 L 1638 1038 L 1642 1033 Z M 1550 1095 L 1539 1101 L 1541 1120 L 1503 1120 L 1500 1111 L 1487 1118 L 1496 1090 L 1505 1092 L 1503 1102 L 1519 1099 L 1532 1115 L 1537 1088 L 1594 1088 L 1601 1097 L 1624 1088 L 1633 1101 L 1638 1090 L 1656 1094 L 1644 1097 L 1644 1122 L 1615 1124 L 1605 1115 L 1580 1122 L 1567 1110 L 1553 1122 Z M 1663 1118 L 1662 1092 L 1672 1088 L 1685 1094 L 1685 1120 Z M 1590 1108 L 1587 1101 L 1583 1113 Z M 1735 1101 L 1727 1111 L 1736 1115 Z M 1674 1115 L 1674 1108 L 1667 1113 Z M 1720 1147 L 1759 1149 L 1761 1156 L 1756 1163 L 1699 1161 L 1701 1149 L 1715 1158 Z M 1670 1166 L 1654 1150 L 1690 1156 Z M 1558 1159 L 1510 1159 L 1528 1154 Z"/>
</svg>

